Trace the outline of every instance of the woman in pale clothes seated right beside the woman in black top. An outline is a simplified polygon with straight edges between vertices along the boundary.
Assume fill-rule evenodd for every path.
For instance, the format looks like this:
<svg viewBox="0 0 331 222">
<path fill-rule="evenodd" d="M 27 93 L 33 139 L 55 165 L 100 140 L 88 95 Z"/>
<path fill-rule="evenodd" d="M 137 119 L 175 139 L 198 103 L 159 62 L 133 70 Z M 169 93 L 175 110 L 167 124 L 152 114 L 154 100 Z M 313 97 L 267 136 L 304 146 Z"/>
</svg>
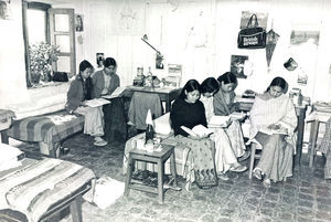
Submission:
<svg viewBox="0 0 331 222">
<path fill-rule="evenodd" d="M 205 108 L 205 116 L 207 123 L 212 116 L 214 116 L 214 105 L 213 98 L 214 94 L 218 91 L 218 82 L 214 77 L 207 77 L 201 83 L 201 98 Z M 242 166 L 237 161 L 237 157 L 231 145 L 231 140 L 222 127 L 213 127 L 214 134 L 211 136 L 211 139 L 215 141 L 215 166 L 217 176 L 222 180 L 228 180 L 228 177 L 225 175 L 227 170 L 243 172 L 247 169 L 246 166 Z"/>
</svg>

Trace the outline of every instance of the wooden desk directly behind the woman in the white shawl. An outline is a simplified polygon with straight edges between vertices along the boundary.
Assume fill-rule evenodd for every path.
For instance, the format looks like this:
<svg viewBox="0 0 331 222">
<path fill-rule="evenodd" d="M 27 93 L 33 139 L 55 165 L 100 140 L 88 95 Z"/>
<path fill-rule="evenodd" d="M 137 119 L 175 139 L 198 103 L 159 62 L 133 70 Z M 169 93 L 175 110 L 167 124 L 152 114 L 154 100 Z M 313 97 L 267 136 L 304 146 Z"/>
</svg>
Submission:
<svg viewBox="0 0 331 222">
<path fill-rule="evenodd" d="M 249 112 L 254 98 L 236 98 L 237 103 L 239 103 L 239 109 L 244 112 Z M 305 118 L 306 118 L 307 104 L 296 106 L 296 114 L 298 117 L 298 138 L 297 138 L 297 155 L 295 162 L 300 165 L 301 154 L 302 154 L 302 144 L 303 144 L 303 133 L 305 133 Z"/>
</svg>

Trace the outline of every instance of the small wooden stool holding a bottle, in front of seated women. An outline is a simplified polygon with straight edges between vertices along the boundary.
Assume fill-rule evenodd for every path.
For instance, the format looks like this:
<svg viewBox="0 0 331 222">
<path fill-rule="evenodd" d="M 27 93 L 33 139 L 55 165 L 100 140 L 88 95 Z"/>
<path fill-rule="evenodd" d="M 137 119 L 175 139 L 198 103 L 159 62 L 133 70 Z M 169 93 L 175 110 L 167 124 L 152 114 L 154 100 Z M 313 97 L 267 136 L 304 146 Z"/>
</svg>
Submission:
<svg viewBox="0 0 331 222">
<path fill-rule="evenodd" d="M 169 145 L 162 145 L 161 151 L 148 152 L 140 149 L 132 149 L 129 152 L 128 167 L 127 167 L 127 178 L 126 178 L 126 187 L 125 194 L 128 195 L 130 189 L 159 193 L 159 203 L 163 203 L 164 199 L 164 190 L 163 190 L 163 176 L 164 176 L 164 162 L 170 157 L 170 168 L 173 177 L 173 186 L 177 187 L 177 177 L 175 177 L 175 162 L 174 162 L 174 147 Z M 146 161 L 153 162 L 158 166 L 158 188 L 152 188 L 146 184 L 131 183 L 131 176 L 135 166 L 135 161 Z"/>
</svg>

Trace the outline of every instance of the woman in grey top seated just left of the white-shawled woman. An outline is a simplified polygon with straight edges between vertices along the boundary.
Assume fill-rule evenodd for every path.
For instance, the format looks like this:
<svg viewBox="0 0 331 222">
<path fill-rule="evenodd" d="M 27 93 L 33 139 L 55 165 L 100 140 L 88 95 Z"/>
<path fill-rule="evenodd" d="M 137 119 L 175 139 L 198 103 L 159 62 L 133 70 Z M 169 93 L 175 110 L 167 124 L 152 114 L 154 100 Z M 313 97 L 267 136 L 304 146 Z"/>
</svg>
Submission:
<svg viewBox="0 0 331 222">
<path fill-rule="evenodd" d="M 220 83 L 220 91 L 214 96 L 214 113 L 217 116 L 228 116 L 237 109 L 236 104 L 234 103 L 236 96 L 234 91 L 238 84 L 237 77 L 233 73 L 226 72 L 221 75 L 217 81 Z M 249 151 L 245 151 L 246 146 L 241 123 L 238 120 L 233 120 L 225 131 L 238 160 L 243 161 L 247 159 L 249 157 Z"/>
</svg>

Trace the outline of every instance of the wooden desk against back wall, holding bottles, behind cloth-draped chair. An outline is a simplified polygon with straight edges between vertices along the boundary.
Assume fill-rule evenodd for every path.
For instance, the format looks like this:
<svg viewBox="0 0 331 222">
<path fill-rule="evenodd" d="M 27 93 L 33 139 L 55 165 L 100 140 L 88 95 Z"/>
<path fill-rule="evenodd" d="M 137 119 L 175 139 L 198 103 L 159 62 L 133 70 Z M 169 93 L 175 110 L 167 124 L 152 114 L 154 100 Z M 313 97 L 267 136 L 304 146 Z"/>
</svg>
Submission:
<svg viewBox="0 0 331 222">
<path fill-rule="evenodd" d="M 135 92 L 143 92 L 143 93 L 151 93 L 151 94 L 158 94 L 160 96 L 161 102 L 166 102 L 166 112 L 168 113 L 171 109 L 171 102 L 174 101 L 180 92 L 181 88 L 150 88 L 150 87 L 140 87 L 140 86 L 127 86 L 127 89 L 129 92 L 126 93 L 127 96 L 132 96 Z"/>
</svg>

